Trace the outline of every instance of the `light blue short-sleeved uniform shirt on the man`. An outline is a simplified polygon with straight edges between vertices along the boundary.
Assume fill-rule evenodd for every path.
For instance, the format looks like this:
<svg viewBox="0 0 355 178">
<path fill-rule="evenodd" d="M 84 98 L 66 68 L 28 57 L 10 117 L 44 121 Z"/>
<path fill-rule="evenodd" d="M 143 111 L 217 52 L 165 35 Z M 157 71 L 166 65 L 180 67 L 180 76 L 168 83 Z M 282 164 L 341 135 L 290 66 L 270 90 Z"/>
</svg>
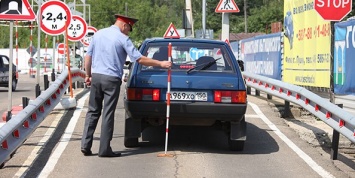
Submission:
<svg viewBox="0 0 355 178">
<path fill-rule="evenodd" d="M 112 25 L 93 36 L 86 55 L 91 56 L 91 73 L 122 78 L 127 55 L 132 62 L 142 57 L 128 36 Z"/>
</svg>

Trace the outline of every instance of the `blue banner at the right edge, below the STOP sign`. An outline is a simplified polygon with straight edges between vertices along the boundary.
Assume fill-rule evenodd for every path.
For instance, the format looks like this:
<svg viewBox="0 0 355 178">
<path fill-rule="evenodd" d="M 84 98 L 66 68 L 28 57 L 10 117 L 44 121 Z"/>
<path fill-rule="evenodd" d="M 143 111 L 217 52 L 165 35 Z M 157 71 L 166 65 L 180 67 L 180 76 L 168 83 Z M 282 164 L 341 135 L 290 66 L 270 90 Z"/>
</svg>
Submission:
<svg viewBox="0 0 355 178">
<path fill-rule="evenodd" d="M 334 28 L 334 93 L 355 95 L 355 20 Z"/>
</svg>

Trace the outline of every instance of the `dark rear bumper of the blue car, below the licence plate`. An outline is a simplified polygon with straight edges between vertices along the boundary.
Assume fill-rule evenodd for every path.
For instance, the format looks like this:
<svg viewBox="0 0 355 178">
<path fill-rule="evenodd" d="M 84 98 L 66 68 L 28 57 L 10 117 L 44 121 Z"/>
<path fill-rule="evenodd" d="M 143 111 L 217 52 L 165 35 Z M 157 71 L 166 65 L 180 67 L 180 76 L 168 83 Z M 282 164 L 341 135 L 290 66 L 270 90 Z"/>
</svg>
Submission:
<svg viewBox="0 0 355 178">
<path fill-rule="evenodd" d="M 166 118 L 167 104 L 164 102 L 124 101 L 129 117 Z M 239 122 L 245 112 L 247 104 L 221 104 L 204 102 L 175 102 L 170 103 L 169 117 L 172 119 L 211 119 L 220 121 Z"/>
</svg>

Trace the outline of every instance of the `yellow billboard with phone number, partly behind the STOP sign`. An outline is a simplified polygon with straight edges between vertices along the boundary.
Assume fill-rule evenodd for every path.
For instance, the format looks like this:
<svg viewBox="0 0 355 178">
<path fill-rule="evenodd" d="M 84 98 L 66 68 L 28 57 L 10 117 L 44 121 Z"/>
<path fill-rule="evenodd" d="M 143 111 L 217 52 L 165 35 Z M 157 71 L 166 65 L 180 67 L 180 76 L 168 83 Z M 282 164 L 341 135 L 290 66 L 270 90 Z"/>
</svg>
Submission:
<svg viewBox="0 0 355 178">
<path fill-rule="evenodd" d="M 330 88 L 330 22 L 314 10 L 313 0 L 284 2 L 284 82 Z"/>
</svg>

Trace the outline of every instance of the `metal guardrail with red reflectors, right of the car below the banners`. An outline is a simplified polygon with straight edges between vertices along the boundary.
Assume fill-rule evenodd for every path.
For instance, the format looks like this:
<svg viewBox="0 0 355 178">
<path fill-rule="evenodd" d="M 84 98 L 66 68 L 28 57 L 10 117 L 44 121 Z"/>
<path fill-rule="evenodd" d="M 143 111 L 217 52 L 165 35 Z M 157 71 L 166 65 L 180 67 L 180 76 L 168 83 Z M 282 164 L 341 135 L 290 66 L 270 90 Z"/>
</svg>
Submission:
<svg viewBox="0 0 355 178">
<path fill-rule="evenodd" d="M 337 105 L 293 84 L 243 72 L 247 86 L 295 103 L 321 119 L 351 142 L 355 142 L 355 116 Z"/>
</svg>

